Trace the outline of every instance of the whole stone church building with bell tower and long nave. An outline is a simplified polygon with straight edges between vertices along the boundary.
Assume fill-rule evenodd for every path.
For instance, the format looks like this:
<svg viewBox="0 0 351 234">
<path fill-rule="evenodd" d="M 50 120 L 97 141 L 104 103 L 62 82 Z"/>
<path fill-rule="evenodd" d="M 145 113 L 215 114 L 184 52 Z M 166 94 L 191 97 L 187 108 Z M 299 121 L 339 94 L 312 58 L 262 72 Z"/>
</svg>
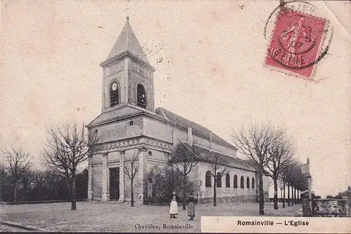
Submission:
<svg viewBox="0 0 351 234">
<path fill-rule="evenodd" d="M 154 108 L 154 67 L 147 61 L 127 22 L 102 67 L 102 113 L 86 127 L 100 139 L 98 151 L 88 159 L 88 200 L 131 200 L 131 180 L 124 173 L 135 153 L 139 170 L 133 182 L 134 198 L 150 196 L 145 177 L 152 167 L 167 166 L 166 153 L 178 142 L 201 142 L 203 156 L 218 153 L 230 172 L 219 179 L 218 200 L 255 201 L 256 170 L 237 158 L 237 149 L 211 130 L 161 107 Z M 213 198 L 213 178 L 206 160 L 190 174 L 199 202 Z M 267 188 L 266 188 L 267 190 Z"/>
</svg>

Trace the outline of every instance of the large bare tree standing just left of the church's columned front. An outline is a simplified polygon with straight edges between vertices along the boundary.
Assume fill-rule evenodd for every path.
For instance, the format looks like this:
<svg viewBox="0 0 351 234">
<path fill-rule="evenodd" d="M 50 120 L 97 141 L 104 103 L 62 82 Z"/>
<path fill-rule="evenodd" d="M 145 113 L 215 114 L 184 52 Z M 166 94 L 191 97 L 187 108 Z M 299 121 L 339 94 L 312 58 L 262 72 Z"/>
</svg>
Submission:
<svg viewBox="0 0 351 234">
<path fill-rule="evenodd" d="M 97 144 L 97 133 L 89 132 L 86 136 L 84 125 L 79 128 L 75 122 L 55 125 L 48 130 L 42 163 L 67 179 L 72 210 L 77 209 L 77 166 L 93 156 Z"/>
</svg>

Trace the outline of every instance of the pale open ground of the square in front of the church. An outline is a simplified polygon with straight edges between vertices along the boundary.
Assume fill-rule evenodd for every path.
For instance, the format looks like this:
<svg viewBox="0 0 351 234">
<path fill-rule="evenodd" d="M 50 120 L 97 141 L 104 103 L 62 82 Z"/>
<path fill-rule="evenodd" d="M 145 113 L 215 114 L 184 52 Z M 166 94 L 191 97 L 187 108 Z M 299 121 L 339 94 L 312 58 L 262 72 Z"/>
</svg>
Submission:
<svg viewBox="0 0 351 234">
<path fill-rule="evenodd" d="M 265 216 L 294 216 L 299 208 L 300 205 L 294 205 L 274 210 L 272 203 L 266 203 Z M 70 210 L 68 202 L 1 205 L 0 219 L 49 231 L 184 233 L 200 232 L 201 216 L 258 216 L 258 203 L 255 202 L 218 204 L 216 207 L 212 204 L 196 205 L 194 221 L 188 220 L 187 212 L 181 206 L 177 218 L 170 219 L 168 209 L 168 206 L 130 207 L 128 203 L 113 202 L 78 202 L 75 211 Z"/>
</svg>

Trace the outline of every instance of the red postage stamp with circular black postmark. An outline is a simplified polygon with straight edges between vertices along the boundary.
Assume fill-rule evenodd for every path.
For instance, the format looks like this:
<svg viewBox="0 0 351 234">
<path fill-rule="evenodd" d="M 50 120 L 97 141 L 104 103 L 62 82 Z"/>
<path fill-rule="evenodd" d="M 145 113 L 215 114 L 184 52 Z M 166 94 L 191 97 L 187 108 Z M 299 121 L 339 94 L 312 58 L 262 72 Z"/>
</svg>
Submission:
<svg viewBox="0 0 351 234">
<path fill-rule="evenodd" d="M 318 62 L 326 20 L 312 15 L 281 11 L 265 63 L 308 78 Z"/>
</svg>

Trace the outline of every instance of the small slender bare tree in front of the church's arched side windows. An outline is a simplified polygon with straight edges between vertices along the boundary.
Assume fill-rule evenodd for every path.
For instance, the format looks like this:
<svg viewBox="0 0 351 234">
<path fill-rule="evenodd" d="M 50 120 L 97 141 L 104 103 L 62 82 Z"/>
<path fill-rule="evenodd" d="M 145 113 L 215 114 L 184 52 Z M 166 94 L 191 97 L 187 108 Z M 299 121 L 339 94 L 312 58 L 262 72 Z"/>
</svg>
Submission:
<svg viewBox="0 0 351 234">
<path fill-rule="evenodd" d="M 220 155 L 220 153 L 211 152 L 205 161 L 209 163 L 208 169 L 210 170 L 211 176 L 213 177 L 213 206 L 216 207 L 216 187 L 218 186 L 218 181 L 230 172 L 230 167 L 227 167 L 227 161 L 223 158 L 223 156 Z M 222 186 L 222 184 L 220 184 L 220 186 Z"/>
</svg>

